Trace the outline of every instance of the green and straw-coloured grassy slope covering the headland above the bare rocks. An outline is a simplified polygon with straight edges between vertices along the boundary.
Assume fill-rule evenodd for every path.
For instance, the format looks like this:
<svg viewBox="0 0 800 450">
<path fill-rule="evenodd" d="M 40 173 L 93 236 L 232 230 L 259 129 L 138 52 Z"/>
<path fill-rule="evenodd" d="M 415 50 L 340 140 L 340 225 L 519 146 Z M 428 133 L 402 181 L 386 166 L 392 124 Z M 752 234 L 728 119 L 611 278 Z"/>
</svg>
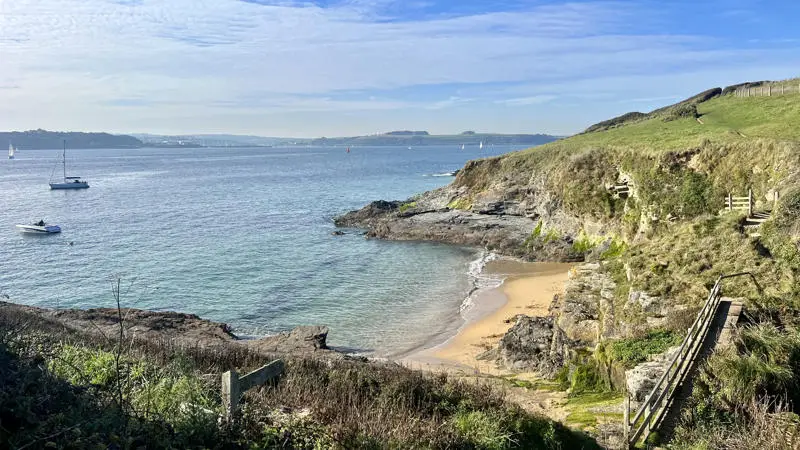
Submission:
<svg viewBox="0 0 800 450">
<path fill-rule="evenodd" d="M 544 174 L 546 187 L 565 210 L 606 221 L 612 233 L 627 241 L 627 248 L 605 264 L 619 284 L 616 320 L 629 325 L 629 339 L 642 341 L 637 344 L 642 347 L 650 344 L 644 341 L 653 317 L 631 307 L 630 289 L 688 308 L 676 310 L 659 325 L 682 335 L 717 275 L 756 273 L 765 295 L 741 280 L 728 283 L 726 293 L 746 297 L 750 320 L 762 323 L 760 327 L 775 323 L 780 339 L 791 344 L 770 344 L 774 350 L 754 354 L 752 344 L 737 341 L 738 352 L 715 355 L 713 367 L 730 369 L 706 372 L 707 390 L 699 392 L 696 401 L 704 415 L 692 416 L 677 441 L 682 448 L 702 447 L 712 433 L 724 436 L 731 448 L 740 448 L 734 443 L 746 441 L 743 436 L 756 426 L 782 432 L 785 424 L 767 414 L 774 409 L 769 402 L 791 398 L 800 389 L 800 94 L 717 97 L 698 104 L 697 112 L 702 123 L 692 117 L 655 117 L 483 160 L 468 165 L 456 183 L 470 188 L 471 199 L 503 183 L 507 186 L 508 180 L 525 186 Z M 637 199 L 614 200 L 604 192 L 603 185 L 614 181 L 619 171 L 633 176 Z M 743 232 L 741 214 L 717 215 L 727 192 L 744 195 L 748 188 L 762 207 L 771 207 L 764 201 L 770 190 L 781 193 L 782 202 L 773 220 L 762 227 L 761 239 Z M 662 220 L 647 233 L 637 233 L 645 211 L 659 213 Z M 678 221 L 663 220 L 667 213 Z M 776 362 L 774 355 L 788 356 Z M 624 361 L 618 363 L 625 366 Z M 723 388 L 734 383 L 753 389 L 732 396 Z M 782 420 L 800 430 L 800 422 L 795 423 L 800 419 L 792 417 Z"/>
</svg>

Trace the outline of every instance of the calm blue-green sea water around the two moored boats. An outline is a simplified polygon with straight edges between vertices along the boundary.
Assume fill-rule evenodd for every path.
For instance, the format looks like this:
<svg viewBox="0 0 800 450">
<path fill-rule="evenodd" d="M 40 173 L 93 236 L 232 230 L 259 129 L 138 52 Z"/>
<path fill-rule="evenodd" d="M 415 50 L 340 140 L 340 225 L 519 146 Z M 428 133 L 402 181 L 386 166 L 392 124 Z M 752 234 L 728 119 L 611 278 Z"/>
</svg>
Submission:
<svg viewBox="0 0 800 450">
<path fill-rule="evenodd" d="M 475 249 L 332 236 L 333 216 L 449 183 L 495 147 L 68 151 L 88 190 L 51 191 L 60 151 L 0 161 L 0 294 L 46 307 L 176 310 L 243 335 L 331 327 L 392 355 L 459 326 Z M 58 173 L 58 171 L 57 171 Z M 44 218 L 63 232 L 25 236 Z"/>
</svg>

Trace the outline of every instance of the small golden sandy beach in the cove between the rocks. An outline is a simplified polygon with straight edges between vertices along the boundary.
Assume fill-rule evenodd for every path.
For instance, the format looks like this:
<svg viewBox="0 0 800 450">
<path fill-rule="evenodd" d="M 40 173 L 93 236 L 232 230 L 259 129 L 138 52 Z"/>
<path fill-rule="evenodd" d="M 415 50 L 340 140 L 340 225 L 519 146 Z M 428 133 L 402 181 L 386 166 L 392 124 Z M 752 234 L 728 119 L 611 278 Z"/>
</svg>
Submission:
<svg viewBox="0 0 800 450">
<path fill-rule="evenodd" d="M 514 316 L 544 316 L 568 278 L 572 264 L 492 261 L 486 272 L 505 277 L 494 289 L 481 292 L 466 314 L 467 322 L 458 334 L 436 347 L 413 354 L 405 361 L 421 368 L 466 370 L 501 374 L 494 363 L 479 361 L 476 356 L 497 345 L 513 326 Z"/>
</svg>

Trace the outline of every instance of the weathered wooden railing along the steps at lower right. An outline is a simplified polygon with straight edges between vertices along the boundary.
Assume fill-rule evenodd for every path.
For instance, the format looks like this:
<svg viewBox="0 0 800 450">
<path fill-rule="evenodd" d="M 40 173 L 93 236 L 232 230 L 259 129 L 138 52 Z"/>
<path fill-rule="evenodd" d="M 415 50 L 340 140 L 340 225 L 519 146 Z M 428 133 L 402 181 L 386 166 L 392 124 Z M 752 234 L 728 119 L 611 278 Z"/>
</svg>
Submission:
<svg viewBox="0 0 800 450">
<path fill-rule="evenodd" d="M 639 405 L 638 411 L 631 420 L 630 410 L 630 394 L 625 395 L 625 411 L 624 411 L 624 433 L 625 439 L 629 446 L 635 445 L 641 437 L 647 437 L 651 431 L 656 429 L 664 418 L 665 413 L 672 406 L 673 395 L 677 388 L 681 385 L 689 369 L 695 362 L 700 347 L 705 340 L 708 329 L 714 321 L 719 306 L 720 298 L 722 298 L 722 281 L 726 278 L 733 278 L 748 275 L 752 278 L 756 288 L 761 292 L 753 274 L 750 272 L 742 272 L 733 275 L 721 275 L 717 278 L 714 287 L 708 294 L 703 308 L 697 313 L 686 337 L 681 343 L 680 349 L 675 356 L 670 360 L 664 374 L 658 379 L 650 394 L 647 395 L 644 402 Z"/>
</svg>

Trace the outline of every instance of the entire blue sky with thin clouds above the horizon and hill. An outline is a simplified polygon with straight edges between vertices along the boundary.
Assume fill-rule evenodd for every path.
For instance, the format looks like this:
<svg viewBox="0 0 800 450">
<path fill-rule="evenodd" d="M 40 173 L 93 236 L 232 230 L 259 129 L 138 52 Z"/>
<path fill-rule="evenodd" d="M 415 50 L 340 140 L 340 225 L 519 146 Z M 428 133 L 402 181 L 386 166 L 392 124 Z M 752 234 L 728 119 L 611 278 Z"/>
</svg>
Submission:
<svg viewBox="0 0 800 450">
<path fill-rule="evenodd" d="M 800 76 L 800 1 L 0 0 L 0 130 L 572 134 Z"/>
</svg>

